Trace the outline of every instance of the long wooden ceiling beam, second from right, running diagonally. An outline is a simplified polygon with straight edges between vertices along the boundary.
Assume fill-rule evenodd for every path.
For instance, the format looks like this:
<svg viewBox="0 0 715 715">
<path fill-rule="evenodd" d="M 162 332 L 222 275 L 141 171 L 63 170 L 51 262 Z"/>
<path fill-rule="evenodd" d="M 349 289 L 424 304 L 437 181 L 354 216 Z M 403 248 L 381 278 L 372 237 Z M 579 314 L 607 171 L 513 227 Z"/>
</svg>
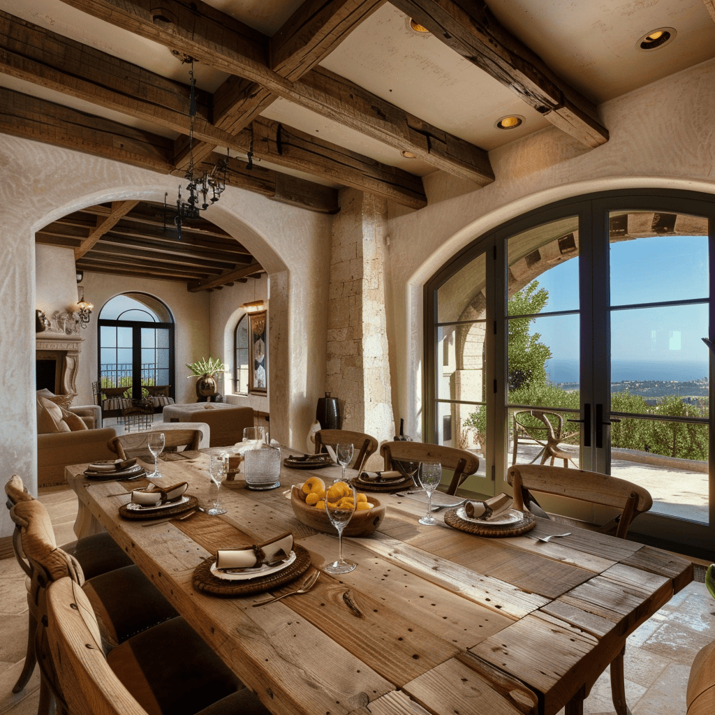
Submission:
<svg viewBox="0 0 715 715">
<path fill-rule="evenodd" d="M 294 104 L 310 109 L 323 117 L 350 127 L 356 131 L 378 139 L 401 151 L 406 149 L 426 162 L 441 162 L 440 168 L 451 167 L 458 176 L 464 176 L 468 164 L 484 164 L 488 166 L 488 156 L 483 149 L 471 147 L 470 157 L 466 162 L 449 162 L 440 152 L 432 152 L 428 137 L 421 132 L 415 132 L 410 124 L 419 122 L 423 127 L 430 127 L 416 117 L 408 117 L 398 107 L 389 102 L 379 100 L 380 104 L 372 107 L 370 102 L 358 102 L 353 106 L 350 94 L 343 94 L 342 82 L 330 82 L 337 75 L 322 73 L 322 79 L 314 80 L 314 86 L 304 82 L 291 82 L 273 71 L 270 66 L 257 61 L 245 53 L 240 44 L 240 37 L 230 26 L 220 20 L 222 14 L 217 13 L 207 4 L 197 1 L 192 3 L 196 11 L 182 11 L 184 7 L 177 0 L 162 0 L 162 7 L 167 8 L 167 16 L 176 18 L 174 24 L 157 24 L 149 12 L 149 0 L 62 0 L 64 3 L 79 10 L 105 20 L 110 24 L 121 26 L 142 37 L 147 37 L 167 47 L 179 49 L 205 64 L 265 87 L 272 94 L 287 99 Z M 230 19 L 229 16 L 224 16 Z M 325 79 L 325 77 L 328 79 Z M 307 75 L 304 76 L 307 77 Z M 357 86 L 352 85 L 356 88 Z M 365 97 L 374 97 L 364 89 Z M 379 99 L 379 98 L 376 98 Z M 433 128 L 435 129 L 435 128 Z M 438 132 L 440 130 L 437 130 Z M 452 135 L 446 135 L 449 143 L 462 140 Z M 468 142 L 463 142 L 468 144 Z M 476 155 L 478 160 L 471 155 Z M 179 165 L 181 162 L 179 162 Z M 465 165 L 466 164 L 466 165 Z M 479 185 L 493 181 L 493 172 L 473 170 L 469 178 Z"/>
</svg>

